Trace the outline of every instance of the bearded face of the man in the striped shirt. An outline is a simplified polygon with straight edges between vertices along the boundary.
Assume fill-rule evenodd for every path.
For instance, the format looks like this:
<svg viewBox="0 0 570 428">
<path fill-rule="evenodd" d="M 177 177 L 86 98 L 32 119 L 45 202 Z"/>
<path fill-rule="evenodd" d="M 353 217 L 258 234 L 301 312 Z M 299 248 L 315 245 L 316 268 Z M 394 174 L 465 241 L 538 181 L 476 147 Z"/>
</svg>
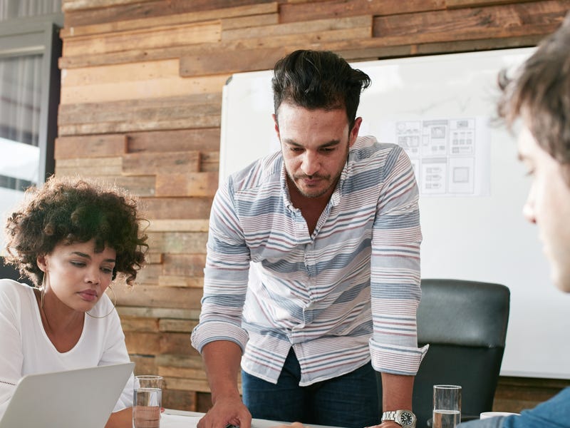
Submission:
<svg viewBox="0 0 570 428">
<path fill-rule="evenodd" d="M 330 197 L 362 119 L 356 119 L 349 133 L 343 108 L 307 110 L 281 103 L 278 115 L 275 131 L 289 175 L 289 191 L 296 189 L 305 198 Z"/>
</svg>

